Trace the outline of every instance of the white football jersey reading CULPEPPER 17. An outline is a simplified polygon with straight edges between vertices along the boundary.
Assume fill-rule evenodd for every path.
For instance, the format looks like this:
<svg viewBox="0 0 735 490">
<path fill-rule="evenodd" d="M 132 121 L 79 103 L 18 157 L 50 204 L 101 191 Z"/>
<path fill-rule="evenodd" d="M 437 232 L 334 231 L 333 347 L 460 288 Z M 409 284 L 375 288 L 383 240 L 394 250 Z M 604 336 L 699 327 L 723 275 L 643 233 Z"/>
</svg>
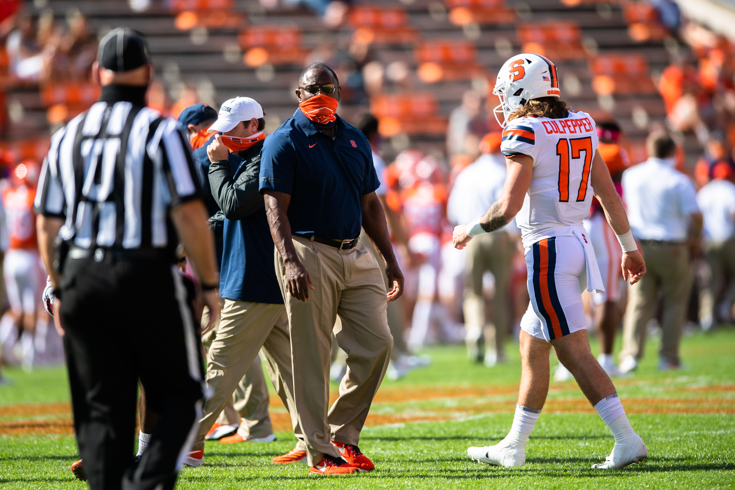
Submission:
<svg viewBox="0 0 735 490">
<path fill-rule="evenodd" d="M 597 147 L 595 121 L 581 111 L 564 119 L 517 118 L 503 129 L 503 154 L 534 159 L 531 187 L 516 215 L 524 247 L 572 236 L 582 225 L 592 205 L 589 176 Z"/>
</svg>

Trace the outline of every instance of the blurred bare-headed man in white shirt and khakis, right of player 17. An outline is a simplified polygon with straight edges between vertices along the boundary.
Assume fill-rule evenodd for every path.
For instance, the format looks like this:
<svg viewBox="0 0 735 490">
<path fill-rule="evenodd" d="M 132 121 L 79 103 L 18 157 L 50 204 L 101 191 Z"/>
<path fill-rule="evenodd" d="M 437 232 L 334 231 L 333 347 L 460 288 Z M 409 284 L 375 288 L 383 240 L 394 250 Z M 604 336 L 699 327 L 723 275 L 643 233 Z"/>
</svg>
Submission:
<svg viewBox="0 0 735 490">
<path fill-rule="evenodd" d="M 676 145 L 661 131 L 648 136 L 650 157 L 623 173 L 628 220 L 645 256 L 647 272 L 631 286 L 623 326 L 622 372 L 638 366 L 646 325 L 661 290 L 661 360 L 659 370 L 678 369 L 679 341 L 692 287 L 692 256 L 698 254 L 702 214 L 694 184 L 674 169 Z"/>
</svg>

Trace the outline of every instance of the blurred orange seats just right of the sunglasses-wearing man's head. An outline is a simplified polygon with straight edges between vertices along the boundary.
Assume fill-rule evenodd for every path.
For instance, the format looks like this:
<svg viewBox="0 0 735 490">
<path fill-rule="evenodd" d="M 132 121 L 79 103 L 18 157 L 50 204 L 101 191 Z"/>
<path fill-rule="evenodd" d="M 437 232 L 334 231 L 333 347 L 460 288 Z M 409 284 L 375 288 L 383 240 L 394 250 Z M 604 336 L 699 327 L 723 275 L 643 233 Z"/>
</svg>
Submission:
<svg viewBox="0 0 735 490">
<path fill-rule="evenodd" d="M 370 98 L 370 112 L 378 118 L 382 136 L 445 134 L 447 118 L 438 115 L 439 103 L 431 93 L 384 93 Z"/>
</svg>

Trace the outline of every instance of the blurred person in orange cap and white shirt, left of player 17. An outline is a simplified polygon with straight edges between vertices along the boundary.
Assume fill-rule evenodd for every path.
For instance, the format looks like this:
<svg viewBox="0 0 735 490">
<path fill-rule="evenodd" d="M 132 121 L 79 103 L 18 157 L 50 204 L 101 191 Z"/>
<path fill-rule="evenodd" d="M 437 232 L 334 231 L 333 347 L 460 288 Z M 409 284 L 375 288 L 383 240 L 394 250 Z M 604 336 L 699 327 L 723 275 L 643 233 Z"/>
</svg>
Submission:
<svg viewBox="0 0 735 490">
<path fill-rule="evenodd" d="M 501 133 L 486 134 L 481 156 L 456 178 L 447 204 L 451 223 L 470 223 L 497 201 L 506 179 L 506 161 L 501 153 Z M 515 220 L 492 233 L 483 234 L 467 245 L 465 267 L 465 342 L 467 356 L 487 367 L 505 360 L 503 342 L 510 327 L 512 303 L 509 280 L 518 228 Z M 485 319 L 483 276 L 492 273 L 495 295 L 492 322 Z M 484 342 L 483 342 L 484 340 Z M 484 344 L 484 345 L 483 345 Z M 483 352 L 484 350 L 484 352 Z"/>
</svg>

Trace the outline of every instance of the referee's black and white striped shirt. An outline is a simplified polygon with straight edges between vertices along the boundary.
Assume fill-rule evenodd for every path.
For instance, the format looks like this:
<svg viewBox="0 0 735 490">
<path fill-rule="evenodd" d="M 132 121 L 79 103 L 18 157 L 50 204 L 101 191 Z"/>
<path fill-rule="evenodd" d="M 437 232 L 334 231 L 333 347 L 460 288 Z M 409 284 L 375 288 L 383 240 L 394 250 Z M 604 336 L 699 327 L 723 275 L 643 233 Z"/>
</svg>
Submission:
<svg viewBox="0 0 735 490">
<path fill-rule="evenodd" d="M 193 198 L 200 182 L 176 120 L 100 101 L 51 137 L 35 208 L 64 218 L 60 237 L 80 248 L 173 250 L 169 210 Z"/>
</svg>

